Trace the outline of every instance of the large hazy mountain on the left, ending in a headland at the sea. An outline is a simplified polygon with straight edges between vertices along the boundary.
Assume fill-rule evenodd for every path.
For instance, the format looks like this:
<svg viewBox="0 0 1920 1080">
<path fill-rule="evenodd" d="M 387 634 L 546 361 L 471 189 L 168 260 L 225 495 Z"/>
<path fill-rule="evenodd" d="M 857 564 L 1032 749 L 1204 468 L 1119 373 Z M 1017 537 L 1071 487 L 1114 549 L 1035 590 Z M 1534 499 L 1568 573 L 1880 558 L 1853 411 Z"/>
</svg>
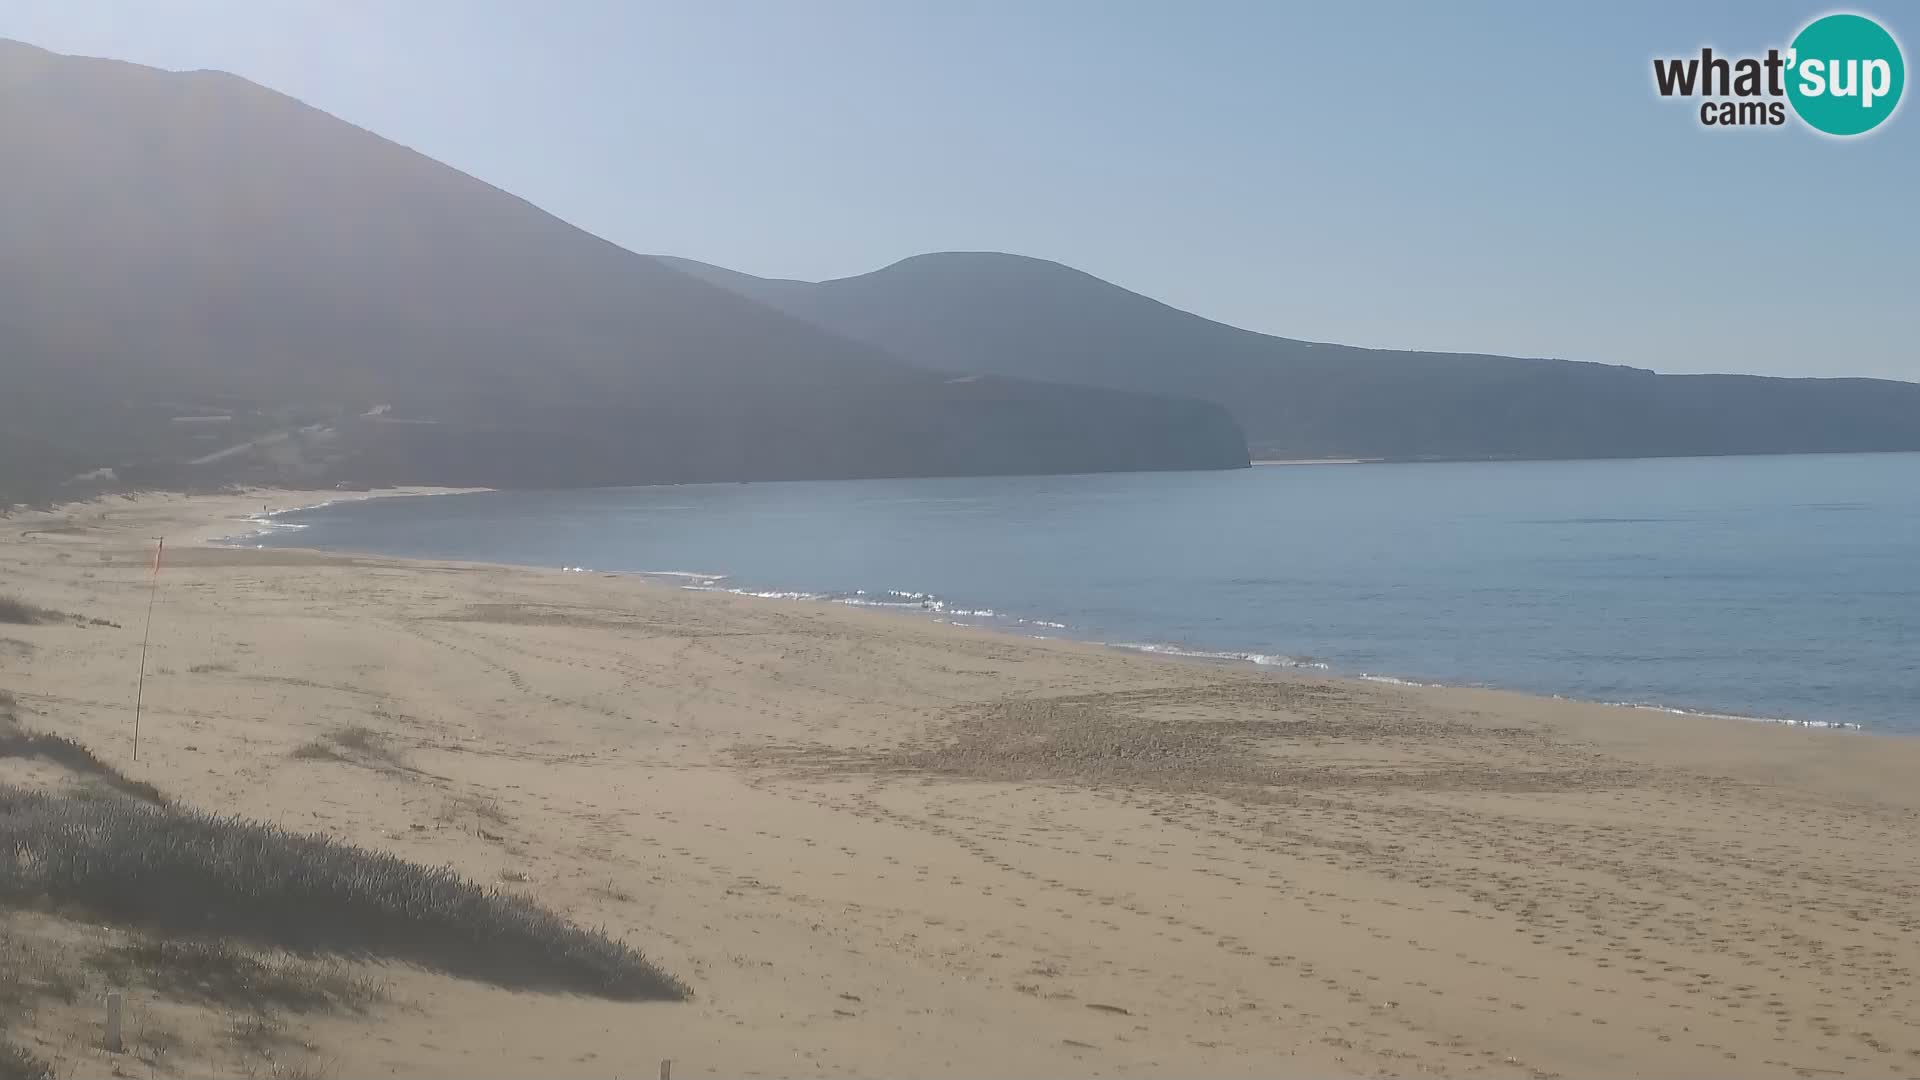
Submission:
<svg viewBox="0 0 1920 1080">
<path fill-rule="evenodd" d="M 234 75 L 0 40 L 0 158 L 15 488 L 1246 465 L 1217 405 L 902 363 Z"/>
</svg>

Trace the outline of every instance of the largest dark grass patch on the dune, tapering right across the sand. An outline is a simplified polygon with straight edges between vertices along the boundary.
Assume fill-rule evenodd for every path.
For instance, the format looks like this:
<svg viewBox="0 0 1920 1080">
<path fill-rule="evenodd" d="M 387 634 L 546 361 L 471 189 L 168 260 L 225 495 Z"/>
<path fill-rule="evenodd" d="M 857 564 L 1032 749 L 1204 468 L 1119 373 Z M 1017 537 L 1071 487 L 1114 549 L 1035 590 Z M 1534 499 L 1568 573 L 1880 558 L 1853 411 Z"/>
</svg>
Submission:
<svg viewBox="0 0 1920 1080">
<path fill-rule="evenodd" d="M 384 955 L 515 988 L 687 995 L 624 942 L 451 869 L 132 799 L 0 786 L 0 901 L 165 934 Z"/>
</svg>

